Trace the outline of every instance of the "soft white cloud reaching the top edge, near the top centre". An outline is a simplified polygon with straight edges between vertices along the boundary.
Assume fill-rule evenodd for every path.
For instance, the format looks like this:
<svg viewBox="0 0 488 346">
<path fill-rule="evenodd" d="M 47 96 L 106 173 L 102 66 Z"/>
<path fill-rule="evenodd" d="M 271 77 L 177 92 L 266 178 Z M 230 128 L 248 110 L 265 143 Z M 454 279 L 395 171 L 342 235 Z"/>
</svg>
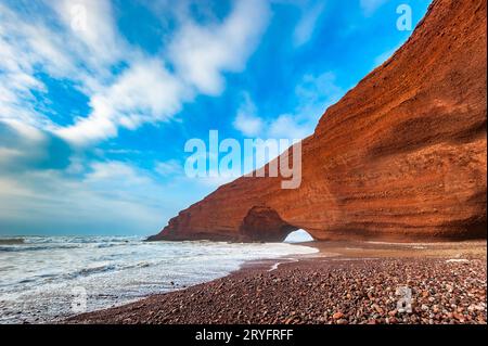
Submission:
<svg viewBox="0 0 488 346">
<path fill-rule="evenodd" d="M 218 94 L 223 72 L 240 72 L 256 47 L 269 18 L 261 0 L 237 0 L 221 24 L 183 24 L 169 47 L 169 56 L 179 75 L 201 92 Z"/>
</svg>

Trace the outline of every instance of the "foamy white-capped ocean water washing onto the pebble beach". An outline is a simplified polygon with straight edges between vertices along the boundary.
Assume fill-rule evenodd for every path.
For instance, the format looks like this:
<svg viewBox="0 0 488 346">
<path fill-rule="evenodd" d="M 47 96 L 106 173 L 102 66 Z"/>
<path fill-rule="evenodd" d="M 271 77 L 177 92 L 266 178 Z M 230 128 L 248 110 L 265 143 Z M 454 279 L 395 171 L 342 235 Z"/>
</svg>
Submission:
<svg viewBox="0 0 488 346">
<path fill-rule="evenodd" d="M 0 238 L 0 323 L 53 322 L 210 281 L 247 260 L 314 252 L 287 243 Z"/>
</svg>

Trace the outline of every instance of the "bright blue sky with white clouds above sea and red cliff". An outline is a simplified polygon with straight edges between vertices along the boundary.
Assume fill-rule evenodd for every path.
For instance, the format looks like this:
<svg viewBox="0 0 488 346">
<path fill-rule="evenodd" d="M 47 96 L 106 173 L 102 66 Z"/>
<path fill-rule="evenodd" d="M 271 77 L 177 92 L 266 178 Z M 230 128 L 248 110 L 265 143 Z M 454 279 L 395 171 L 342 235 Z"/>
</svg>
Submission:
<svg viewBox="0 0 488 346">
<path fill-rule="evenodd" d="M 310 134 L 403 3 L 0 0 L 0 234 L 157 232 L 226 181 L 184 175 L 189 139 Z"/>
</svg>

